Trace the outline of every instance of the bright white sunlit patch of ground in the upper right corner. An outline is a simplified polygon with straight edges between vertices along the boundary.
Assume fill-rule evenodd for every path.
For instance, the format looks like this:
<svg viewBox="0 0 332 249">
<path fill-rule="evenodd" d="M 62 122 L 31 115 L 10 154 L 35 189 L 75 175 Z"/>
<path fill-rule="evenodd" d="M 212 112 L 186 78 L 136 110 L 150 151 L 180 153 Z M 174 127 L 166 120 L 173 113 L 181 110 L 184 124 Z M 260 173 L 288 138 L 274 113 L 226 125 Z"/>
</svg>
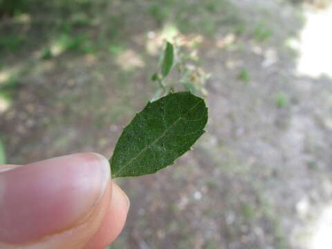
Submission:
<svg viewBox="0 0 332 249">
<path fill-rule="evenodd" d="M 307 10 L 299 43 L 297 71 L 301 75 L 332 76 L 332 5 L 325 10 Z"/>
</svg>

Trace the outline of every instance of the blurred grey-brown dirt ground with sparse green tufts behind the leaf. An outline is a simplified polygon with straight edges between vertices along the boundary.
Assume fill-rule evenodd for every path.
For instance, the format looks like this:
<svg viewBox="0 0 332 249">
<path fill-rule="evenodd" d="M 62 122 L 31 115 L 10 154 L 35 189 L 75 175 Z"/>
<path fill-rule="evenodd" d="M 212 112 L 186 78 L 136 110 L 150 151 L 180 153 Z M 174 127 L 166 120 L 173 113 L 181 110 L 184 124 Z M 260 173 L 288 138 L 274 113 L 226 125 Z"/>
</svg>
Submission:
<svg viewBox="0 0 332 249">
<path fill-rule="evenodd" d="M 149 1 L 113 1 L 100 18 L 116 22 L 120 35 L 106 52 L 43 60 L 41 48 L 52 42 L 46 35 L 3 52 L 0 80 L 15 74 L 18 82 L 0 112 L 8 161 L 111 156 L 122 127 L 156 89 L 149 77 L 158 55 L 149 44 L 174 24 L 188 39 L 201 37 L 194 49 L 212 75 L 208 132 L 176 165 L 117 181 L 131 210 L 111 248 L 318 249 L 317 221 L 332 197 L 332 78 L 297 73 L 292 41 L 306 24 L 305 8 L 233 0 L 207 1 L 215 6 L 203 11 L 198 2 L 163 6 L 164 17 Z M 142 12 L 129 15 L 136 8 Z M 8 28 L 2 24 L 1 36 Z M 115 34 L 102 25 L 88 30 L 104 40 Z"/>
</svg>

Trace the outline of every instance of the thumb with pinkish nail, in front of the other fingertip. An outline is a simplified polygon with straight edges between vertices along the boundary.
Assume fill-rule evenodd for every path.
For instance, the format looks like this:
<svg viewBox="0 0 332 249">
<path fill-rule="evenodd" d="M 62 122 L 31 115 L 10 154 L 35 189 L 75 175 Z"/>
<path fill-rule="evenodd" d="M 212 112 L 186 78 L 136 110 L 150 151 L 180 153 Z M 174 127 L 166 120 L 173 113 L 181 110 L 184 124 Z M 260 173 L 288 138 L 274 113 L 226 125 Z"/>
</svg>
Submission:
<svg viewBox="0 0 332 249">
<path fill-rule="evenodd" d="M 60 156 L 0 174 L 0 241 L 25 243 L 86 219 L 104 194 L 109 162 L 99 154 Z"/>
</svg>

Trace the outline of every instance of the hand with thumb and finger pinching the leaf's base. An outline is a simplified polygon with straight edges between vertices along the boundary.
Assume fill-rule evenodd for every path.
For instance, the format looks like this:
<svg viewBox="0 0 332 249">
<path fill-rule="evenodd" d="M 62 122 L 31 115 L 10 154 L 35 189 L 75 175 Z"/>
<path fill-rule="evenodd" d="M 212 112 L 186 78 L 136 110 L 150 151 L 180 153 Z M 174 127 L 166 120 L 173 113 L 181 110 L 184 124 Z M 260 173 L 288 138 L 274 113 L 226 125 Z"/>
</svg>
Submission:
<svg viewBox="0 0 332 249">
<path fill-rule="evenodd" d="M 129 199 L 99 154 L 0 165 L 0 248 L 102 249 L 118 237 Z"/>
</svg>

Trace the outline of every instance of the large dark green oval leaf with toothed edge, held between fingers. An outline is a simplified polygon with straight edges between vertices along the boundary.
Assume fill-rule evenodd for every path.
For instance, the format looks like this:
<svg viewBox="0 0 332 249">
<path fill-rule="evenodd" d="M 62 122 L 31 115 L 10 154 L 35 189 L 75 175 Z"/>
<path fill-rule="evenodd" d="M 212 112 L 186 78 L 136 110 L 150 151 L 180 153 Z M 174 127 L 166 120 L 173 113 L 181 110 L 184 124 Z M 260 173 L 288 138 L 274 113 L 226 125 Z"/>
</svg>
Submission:
<svg viewBox="0 0 332 249">
<path fill-rule="evenodd" d="M 148 102 L 118 140 L 112 178 L 152 174 L 174 164 L 205 132 L 207 121 L 204 100 L 187 91 Z"/>
</svg>

